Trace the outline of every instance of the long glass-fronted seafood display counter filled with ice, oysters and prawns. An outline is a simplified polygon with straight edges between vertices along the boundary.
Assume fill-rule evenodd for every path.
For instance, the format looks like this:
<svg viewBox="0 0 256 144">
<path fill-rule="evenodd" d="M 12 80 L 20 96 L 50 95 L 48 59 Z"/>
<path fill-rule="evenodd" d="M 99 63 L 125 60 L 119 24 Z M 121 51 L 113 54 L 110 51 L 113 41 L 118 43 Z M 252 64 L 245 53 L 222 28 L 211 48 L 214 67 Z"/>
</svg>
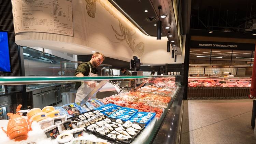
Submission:
<svg viewBox="0 0 256 144">
<path fill-rule="evenodd" d="M 1 85 L 106 82 L 133 79 L 142 84 L 129 92 L 115 86 L 115 95 L 95 97 L 99 89 L 81 103 L 45 106 L 42 109 L 9 113 L 0 120 L 3 143 L 132 143 L 153 141 L 180 89 L 171 76 L 96 76 L 96 77 L 0 77 Z M 94 93 L 95 91 L 95 93 Z M 91 97 L 90 97 L 91 96 Z"/>
</svg>

